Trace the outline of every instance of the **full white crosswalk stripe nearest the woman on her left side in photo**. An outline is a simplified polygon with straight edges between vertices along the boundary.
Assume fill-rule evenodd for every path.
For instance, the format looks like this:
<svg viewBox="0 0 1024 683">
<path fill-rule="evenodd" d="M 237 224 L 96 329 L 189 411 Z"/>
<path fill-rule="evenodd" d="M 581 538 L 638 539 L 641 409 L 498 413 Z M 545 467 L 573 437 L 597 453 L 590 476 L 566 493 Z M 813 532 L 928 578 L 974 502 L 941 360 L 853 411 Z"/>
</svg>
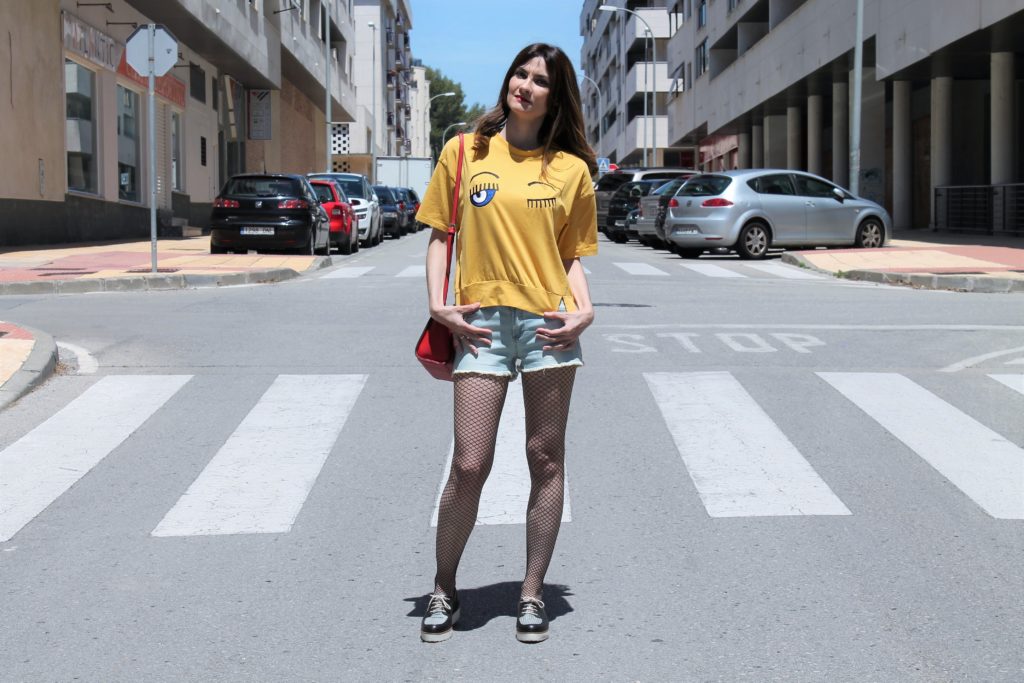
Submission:
<svg viewBox="0 0 1024 683">
<path fill-rule="evenodd" d="M 153 536 L 291 529 L 366 375 L 282 375 Z"/>
</svg>

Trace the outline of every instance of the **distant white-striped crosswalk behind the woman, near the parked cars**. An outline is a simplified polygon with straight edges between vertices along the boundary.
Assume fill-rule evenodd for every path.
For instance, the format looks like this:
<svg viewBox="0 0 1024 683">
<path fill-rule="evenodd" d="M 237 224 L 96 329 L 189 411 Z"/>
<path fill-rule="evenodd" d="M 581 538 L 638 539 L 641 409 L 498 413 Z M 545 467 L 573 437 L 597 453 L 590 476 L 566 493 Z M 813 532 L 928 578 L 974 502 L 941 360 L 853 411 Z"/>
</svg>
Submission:
<svg viewBox="0 0 1024 683">
<path fill-rule="evenodd" d="M 778 280 L 778 281 L 818 281 L 828 282 L 821 273 L 779 262 L 753 263 L 731 259 L 712 261 L 687 261 L 679 263 L 667 260 L 665 263 L 652 265 L 641 261 L 588 261 L 584 268 L 593 278 L 623 278 L 636 280 L 650 278 L 708 278 L 716 280 Z M 426 276 L 423 265 L 410 266 L 372 266 L 343 265 L 326 272 L 324 280 L 352 280 L 366 275 L 380 278 L 419 279 Z"/>
</svg>

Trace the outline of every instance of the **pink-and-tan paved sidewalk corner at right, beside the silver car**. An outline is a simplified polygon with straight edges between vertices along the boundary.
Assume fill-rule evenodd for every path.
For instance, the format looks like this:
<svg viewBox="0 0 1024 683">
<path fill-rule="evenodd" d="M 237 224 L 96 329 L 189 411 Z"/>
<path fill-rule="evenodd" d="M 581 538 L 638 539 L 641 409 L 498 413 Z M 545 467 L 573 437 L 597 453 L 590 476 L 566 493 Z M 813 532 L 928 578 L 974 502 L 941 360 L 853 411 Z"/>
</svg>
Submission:
<svg viewBox="0 0 1024 683">
<path fill-rule="evenodd" d="M 1024 238 L 908 230 L 885 249 L 786 252 L 837 278 L 962 292 L 1024 292 Z"/>
</svg>

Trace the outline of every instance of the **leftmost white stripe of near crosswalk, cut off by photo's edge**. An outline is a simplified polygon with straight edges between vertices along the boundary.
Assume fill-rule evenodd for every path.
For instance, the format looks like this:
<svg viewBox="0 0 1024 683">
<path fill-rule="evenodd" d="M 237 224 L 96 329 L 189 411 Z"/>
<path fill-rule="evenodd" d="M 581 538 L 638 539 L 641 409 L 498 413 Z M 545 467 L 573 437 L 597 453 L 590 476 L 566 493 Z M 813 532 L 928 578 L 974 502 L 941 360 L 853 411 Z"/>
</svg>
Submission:
<svg viewBox="0 0 1024 683">
<path fill-rule="evenodd" d="M 0 453 L 0 542 L 98 465 L 189 379 L 104 377 Z"/>
</svg>

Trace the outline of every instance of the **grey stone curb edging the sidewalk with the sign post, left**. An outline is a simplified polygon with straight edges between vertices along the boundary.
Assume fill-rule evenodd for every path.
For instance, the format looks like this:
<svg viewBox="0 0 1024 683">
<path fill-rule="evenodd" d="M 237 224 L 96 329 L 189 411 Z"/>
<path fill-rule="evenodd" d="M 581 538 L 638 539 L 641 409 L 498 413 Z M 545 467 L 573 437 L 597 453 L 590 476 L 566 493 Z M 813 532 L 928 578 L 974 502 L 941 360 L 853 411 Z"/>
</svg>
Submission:
<svg viewBox="0 0 1024 683">
<path fill-rule="evenodd" d="M 269 285 L 300 278 L 333 265 L 330 256 L 319 256 L 303 272 L 293 268 L 263 268 L 222 274 L 148 274 L 96 280 L 54 280 L 46 282 L 0 283 L 0 295 L 86 294 L 90 292 L 158 292 L 165 290 L 230 287 L 237 285 Z M 28 330 L 28 328 L 26 328 Z"/>
</svg>

